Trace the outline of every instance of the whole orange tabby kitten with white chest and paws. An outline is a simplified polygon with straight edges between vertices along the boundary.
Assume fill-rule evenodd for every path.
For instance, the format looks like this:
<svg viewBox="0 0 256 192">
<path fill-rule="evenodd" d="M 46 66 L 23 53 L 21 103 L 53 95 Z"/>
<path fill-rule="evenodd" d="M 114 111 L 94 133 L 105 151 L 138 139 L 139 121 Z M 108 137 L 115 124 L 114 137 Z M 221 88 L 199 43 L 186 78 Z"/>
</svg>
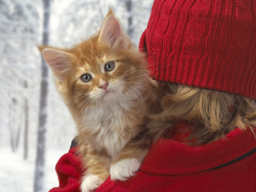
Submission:
<svg viewBox="0 0 256 192">
<path fill-rule="evenodd" d="M 79 131 L 81 190 L 96 189 L 109 174 L 120 181 L 134 176 L 150 148 L 145 124 L 160 91 L 112 10 L 90 39 L 70 49 L 39 49 Z"/>
</svg>

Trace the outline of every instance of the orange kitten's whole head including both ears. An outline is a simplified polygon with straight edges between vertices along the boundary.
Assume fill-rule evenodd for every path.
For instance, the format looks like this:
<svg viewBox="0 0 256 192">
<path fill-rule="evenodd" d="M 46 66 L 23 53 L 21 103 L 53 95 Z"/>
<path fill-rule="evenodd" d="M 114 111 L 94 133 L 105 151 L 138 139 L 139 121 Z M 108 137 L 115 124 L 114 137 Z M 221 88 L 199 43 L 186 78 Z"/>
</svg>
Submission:
<svg viewBox="0 0 256 192">
<path fill-rule="evenodd" d="M 60 94 L 68 103 L 94 106 L 139 97 L 148 74 L 146 62 L 110 10 L 101 30 L 72 48 L 39 47 Z M 69 107 L 70 108 L 70 107 Z"/>
</svg>

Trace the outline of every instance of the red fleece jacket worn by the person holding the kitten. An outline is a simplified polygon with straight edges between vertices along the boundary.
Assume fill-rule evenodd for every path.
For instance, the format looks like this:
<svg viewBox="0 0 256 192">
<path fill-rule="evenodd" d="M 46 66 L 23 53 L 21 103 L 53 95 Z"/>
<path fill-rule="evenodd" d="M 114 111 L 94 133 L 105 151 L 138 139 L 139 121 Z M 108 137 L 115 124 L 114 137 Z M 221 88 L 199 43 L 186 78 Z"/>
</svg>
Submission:
<svg viewBox="0 0 256 192">
<path fill-rule="evenodd" d="M 137 174 L 125 182 L 110 177 L 101 191 L 256 191 L 256 139 L 239 128 L 225 139 L 199 147 L 172 139 L 152 144 Z M 50 192 L 80 191 L 81 157 L 71 148 L 56 165 L 59 187 Z"/>
</svg>

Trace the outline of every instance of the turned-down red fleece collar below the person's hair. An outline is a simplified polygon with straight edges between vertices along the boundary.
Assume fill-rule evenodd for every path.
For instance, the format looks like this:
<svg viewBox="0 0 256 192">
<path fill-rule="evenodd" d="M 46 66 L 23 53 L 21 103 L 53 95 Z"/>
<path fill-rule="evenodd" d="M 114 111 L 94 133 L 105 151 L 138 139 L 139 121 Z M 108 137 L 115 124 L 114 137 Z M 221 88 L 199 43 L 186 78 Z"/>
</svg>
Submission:
<svg viewBox="0 0 256 192">
<path fill-rule="evenodd" d="M 249 129 L 242 131 L 236 128 L 225 138 L 200 146 L 161 137 L 152 144 L 140 169 L 160 175 L 203 172 L 232 162 L 254 148 L 256 139 Z"/>
</svg>

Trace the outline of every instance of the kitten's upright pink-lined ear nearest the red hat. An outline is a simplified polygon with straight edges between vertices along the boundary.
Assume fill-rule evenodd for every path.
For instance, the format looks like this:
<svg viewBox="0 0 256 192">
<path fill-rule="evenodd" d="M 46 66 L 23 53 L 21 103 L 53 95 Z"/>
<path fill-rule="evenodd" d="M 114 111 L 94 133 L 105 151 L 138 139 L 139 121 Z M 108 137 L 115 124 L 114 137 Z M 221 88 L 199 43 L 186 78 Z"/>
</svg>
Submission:
<svg viewBox="0 0 256 192">
<path fill-rule="evenodd" d="M 123 31 L 119 20 L 113 15 L 111 9 L 104 20 L 98 40 L 119 48 L 127 48 L 130 44 L 129 37 Z"/>
</svg>

